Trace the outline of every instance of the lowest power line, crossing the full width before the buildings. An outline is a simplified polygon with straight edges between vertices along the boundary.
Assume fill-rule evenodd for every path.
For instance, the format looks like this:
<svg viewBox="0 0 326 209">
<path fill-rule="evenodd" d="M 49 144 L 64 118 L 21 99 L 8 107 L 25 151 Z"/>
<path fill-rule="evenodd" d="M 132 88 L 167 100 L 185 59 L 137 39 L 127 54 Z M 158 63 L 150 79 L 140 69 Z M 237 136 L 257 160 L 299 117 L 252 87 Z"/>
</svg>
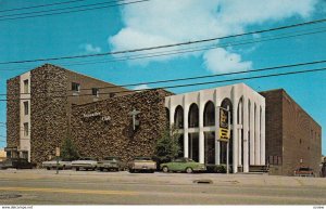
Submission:
<svg viewBox="0 0 326 209">
<path fill-rule="evenodd" d="M 159 90 L 159 89 L 175 89 L 175 88 L 183 88 L 183 87 L 214 84 L 214 83 L 221 83 L 221 82 L 230 82 L 230 81 L 239 81 L 239 80 L 250 80 L 250 79 L 268 78 L 268 77 L 276 77 L 276 76 L 294 75 L 294 74 L 316 73 L 316 71 L 324 71 L 324 70 L 326 70 L 326 67 L 316 68 L 316 69 L 308 69 L 308 70 L 298 70 L 298 71 L 269 74 L 269 75 L 263 75 L 263 76 L 242 77 L 242 78 L 236 78 L 236 79 L 215 80 L 215 81 L 209 81 L 209 82 L 197 82 L 197 83 L 188 83 L 188 84 L 165 86 L 165 87 L 148 88 L 148 89 L 141 89 L 141 90 L 135 90 L 135 91 L 125 90 L 125 91 L 116 91 L 116 92 L 110 92 L 110 93 L 142 92 L 142 91 L 147 91 L 147 90 Z M 100 94 L 110 94 L 110 93 L 100 93 Z M 92 94 L 51 96 L 51 99 L 70 97 L 70 96 L 78 97 L 78 96 L 86 96 L 86 95 L 92 95 Z M 48 97 L 35 97 L 35 99 L 48 99 Z M 12 99 L 11 101 L 18 101 L 18 100 L 30 100 L 30 97 L 29 99 Z M 9 100 L 0 100 L 0 102 L 4 102 L 4 101 L 9 101 Z"/>
</svg>

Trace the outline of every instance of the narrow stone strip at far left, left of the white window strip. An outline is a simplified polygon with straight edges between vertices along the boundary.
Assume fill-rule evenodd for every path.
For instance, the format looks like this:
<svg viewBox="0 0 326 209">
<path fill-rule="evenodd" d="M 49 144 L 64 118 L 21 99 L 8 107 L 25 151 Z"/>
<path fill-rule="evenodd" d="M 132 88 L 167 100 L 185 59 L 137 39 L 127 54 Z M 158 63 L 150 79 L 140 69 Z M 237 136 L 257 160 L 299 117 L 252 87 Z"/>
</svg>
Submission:
<svg viewBox="0 0 326 209">
<path fill-rule="evenodd" d="M 7 146 L 20 145 L 20 77 L 7 81 Z"/>
</svg>

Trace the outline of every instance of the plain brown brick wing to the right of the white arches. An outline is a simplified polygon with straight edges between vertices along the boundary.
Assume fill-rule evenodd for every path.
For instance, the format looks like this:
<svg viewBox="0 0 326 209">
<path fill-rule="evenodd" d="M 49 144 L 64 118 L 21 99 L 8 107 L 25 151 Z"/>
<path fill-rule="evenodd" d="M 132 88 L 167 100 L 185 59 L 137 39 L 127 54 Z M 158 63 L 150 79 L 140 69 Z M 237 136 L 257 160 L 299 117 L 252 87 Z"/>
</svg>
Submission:
<svg viewBox="0 0 326 209">
<path fill-rule="evenodd" d="M 266 159 L 272 173 L 292 175 L 300 166 L 318 174 L 322 128 L 284 90 L 261 92 L 266 99 Z M 274 157 L 274 162 L 271 156 Z"/>
</svg>

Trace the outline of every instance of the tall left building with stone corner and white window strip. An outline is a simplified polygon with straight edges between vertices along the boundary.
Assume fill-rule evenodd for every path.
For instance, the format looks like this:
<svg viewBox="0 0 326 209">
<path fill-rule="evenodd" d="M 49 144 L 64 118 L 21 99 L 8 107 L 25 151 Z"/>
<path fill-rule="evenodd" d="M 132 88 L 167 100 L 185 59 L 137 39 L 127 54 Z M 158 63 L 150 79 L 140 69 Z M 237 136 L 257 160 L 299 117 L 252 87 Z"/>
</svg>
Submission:
<svg viewBox="0 0 326 209">
<path fill-rule="evenodd" d="M 72 106 L 130 93 L 50 64 L 9 79 L 7 88 L 5 151 L 34 162 L 53 156 L 70 135 Z"/>
</svg>

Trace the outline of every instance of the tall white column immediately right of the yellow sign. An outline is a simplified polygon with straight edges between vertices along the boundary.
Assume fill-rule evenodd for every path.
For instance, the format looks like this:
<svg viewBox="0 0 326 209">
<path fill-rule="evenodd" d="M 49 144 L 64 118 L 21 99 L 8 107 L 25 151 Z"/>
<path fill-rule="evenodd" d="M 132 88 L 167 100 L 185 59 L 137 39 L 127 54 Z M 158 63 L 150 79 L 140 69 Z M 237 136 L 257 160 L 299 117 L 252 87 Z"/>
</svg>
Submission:
<svg viewBox="0 0 326 209">
<path fill-rule="evenodd" d="M 237 118 L 238 118 L 238 101 L 236 95 L 236 89 L 231 91 L 233 102 L 233 172 L 238 172 L 238 131 L 237 131 Z"/>
</svg>

